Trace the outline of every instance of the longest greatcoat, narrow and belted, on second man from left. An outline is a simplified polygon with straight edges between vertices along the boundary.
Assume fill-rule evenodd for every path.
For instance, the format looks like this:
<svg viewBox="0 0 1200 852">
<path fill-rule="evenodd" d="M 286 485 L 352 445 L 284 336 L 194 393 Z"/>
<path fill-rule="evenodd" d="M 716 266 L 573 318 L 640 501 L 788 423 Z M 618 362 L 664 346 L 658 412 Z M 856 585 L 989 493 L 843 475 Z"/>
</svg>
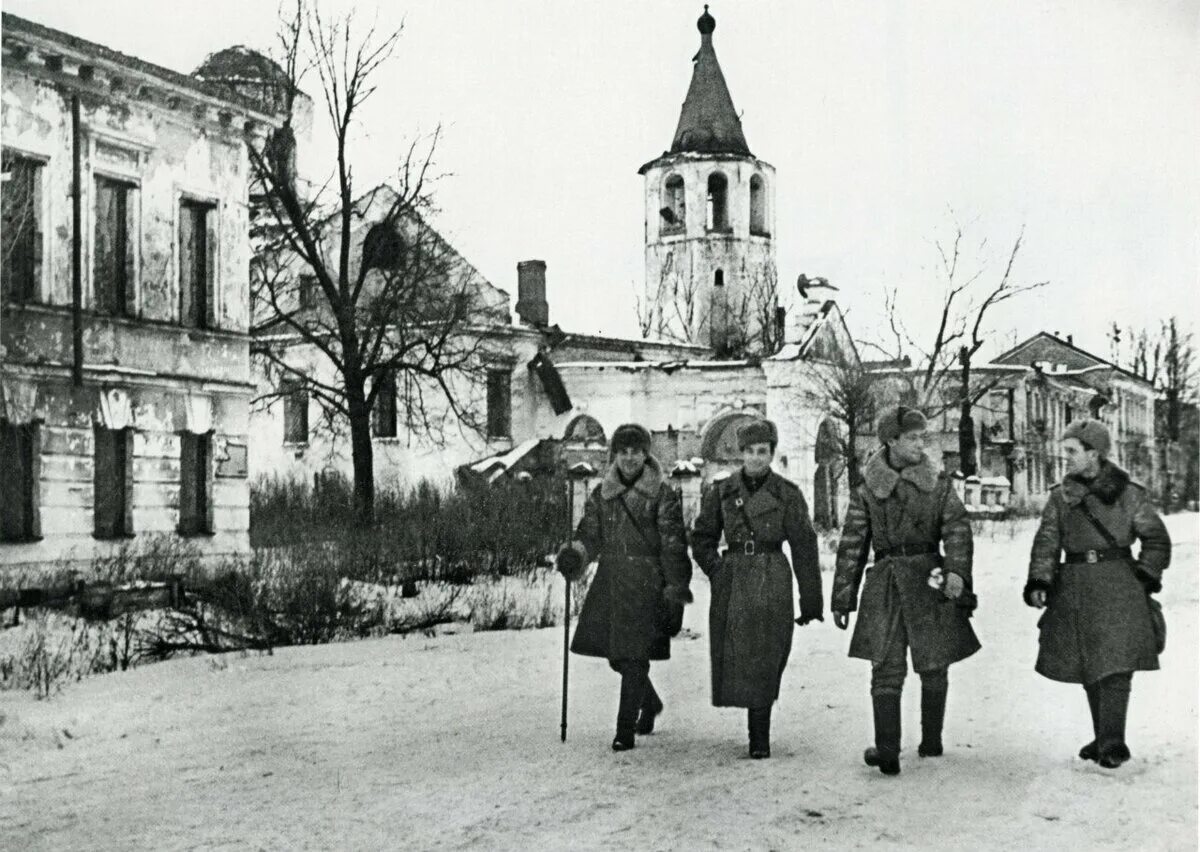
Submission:
<svg viewBox="0 0 1200 852">
<path fill-rule="evenodd" d="M 755 541 L 718 553 L 721 533 L 731 544 Z M 778 550 L 786 541 L 792 564 Z M 766 546 L 763 552 L 757 552 Z M 800 592 L 800 614 L 821 616 L 817 538 L 800 490 L 770 472 L 755 491 L 742 474 L 718 480 L 701 500 L 692 524 L 691 550 L 713 586 L 708 610 L 714 707 L 769 707 L 792 649 L 792 571 Z"/>
</svg>

